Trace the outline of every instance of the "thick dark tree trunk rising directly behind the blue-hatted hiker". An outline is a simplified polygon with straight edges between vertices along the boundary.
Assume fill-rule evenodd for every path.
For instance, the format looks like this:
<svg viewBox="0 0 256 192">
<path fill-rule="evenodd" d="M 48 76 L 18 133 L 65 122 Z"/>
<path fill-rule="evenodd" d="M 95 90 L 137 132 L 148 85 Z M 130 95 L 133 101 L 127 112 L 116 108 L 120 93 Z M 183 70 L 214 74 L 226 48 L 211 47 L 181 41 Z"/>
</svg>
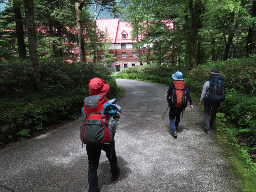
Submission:
<svg viewBox="0 0 256 192">
<path fill-rule="evenodd" d="M 190 10 L 190 21 L 191 21 L 191 36 L 190 36 L 190 68 L 193 68 L 197 65 L 196 61 L 196 42 L 198 36 L 198 29 L 200 25 L 199 17 L 201 15 L 201 1 L 196 0 L 195 8 L 193 7 L 192 0 L 189 1 L 189 10 Z"/>
</svg>

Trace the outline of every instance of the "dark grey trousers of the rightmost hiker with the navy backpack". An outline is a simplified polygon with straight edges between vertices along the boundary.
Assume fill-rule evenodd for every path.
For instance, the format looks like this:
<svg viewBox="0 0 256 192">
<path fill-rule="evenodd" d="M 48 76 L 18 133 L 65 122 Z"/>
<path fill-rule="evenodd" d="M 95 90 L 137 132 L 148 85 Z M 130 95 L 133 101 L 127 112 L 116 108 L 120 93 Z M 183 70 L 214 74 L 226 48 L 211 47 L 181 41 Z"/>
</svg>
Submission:
<svg viewBox="0 0 256 192">
<path fill-rule="evenodd" d="M 210 103 L 204 101 L 204 128 L 210 129 L 216 119 L 216 113 L 220 103 Z M 210 118 L 211 115 L 211 118 Z"/>
</svg>

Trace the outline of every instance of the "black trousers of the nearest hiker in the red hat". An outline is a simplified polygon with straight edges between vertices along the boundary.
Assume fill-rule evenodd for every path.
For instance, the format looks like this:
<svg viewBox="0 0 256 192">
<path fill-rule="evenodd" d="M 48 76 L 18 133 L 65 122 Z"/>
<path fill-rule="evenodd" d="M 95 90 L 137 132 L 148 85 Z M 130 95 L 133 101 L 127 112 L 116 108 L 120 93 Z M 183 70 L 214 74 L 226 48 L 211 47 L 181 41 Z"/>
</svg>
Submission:
<svg viewBox="0 0 256 192">
<path fill-rule="evenodd" d="M 89 169 L 88 169 L 89 190 L 88 190 L 88 192 L 98 192 L 99 191 L 97 170 L 99 167 L 101 150 L 106 152 L 106 156 L 110 163 L 110 172 L 114 173 L 114 174 L 117 172 L 115 140 L 112 141 L 111 144 L 101 144 L 101 145 L 87 144 L 86 152 L 87 152 L 88 161 L 89 161 Z"/>
</svg>

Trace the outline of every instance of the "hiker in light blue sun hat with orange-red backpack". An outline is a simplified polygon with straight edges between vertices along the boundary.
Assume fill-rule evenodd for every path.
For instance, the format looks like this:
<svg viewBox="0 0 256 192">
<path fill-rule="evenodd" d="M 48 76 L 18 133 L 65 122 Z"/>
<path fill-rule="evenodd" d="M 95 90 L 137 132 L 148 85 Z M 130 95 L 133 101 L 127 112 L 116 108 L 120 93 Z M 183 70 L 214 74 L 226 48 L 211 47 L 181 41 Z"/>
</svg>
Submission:
<svg viewBox="0 0 256 192">
<path fill-rule="evenodd" d="M 190 103 L 190 110 L 193 109 L 192 99 L 189 95 L 188 86 L 183 81 L 183 75 L 180 71 L 172 74 L 173 83 L 170 84 L 167 92 L 167 103 L 170 106 L 169 120 L 173 132 L 173 138 L 178 137 L 178 125 L 180 123 L 180 114 Z M 181 116 L 182 117 L 182 116 Z"/>
</svg>

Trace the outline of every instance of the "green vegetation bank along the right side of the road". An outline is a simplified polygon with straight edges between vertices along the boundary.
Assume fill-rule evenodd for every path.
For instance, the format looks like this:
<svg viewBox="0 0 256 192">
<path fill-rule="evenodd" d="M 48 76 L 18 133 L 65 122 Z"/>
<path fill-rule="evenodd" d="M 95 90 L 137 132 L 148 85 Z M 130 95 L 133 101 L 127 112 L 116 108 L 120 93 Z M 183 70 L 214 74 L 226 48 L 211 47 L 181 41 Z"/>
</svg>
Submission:
<svg viewBox="0 0 256 192">
<path fill-rule="evenodd" d="M 116 78 L 169 85 L 172 74 L 181 71 L 189 91 L 199 102 L 202 87 L 212 69 L 225 78 L 226 100 L 217 113 L 217 133 L 228 159 L 241 173 L 246 191 L 256 188 L 256 60 L 234 59 L 209 62 L 189 70 L 186 67 L 145 65 L 127 68 Z"/>
</svg>

